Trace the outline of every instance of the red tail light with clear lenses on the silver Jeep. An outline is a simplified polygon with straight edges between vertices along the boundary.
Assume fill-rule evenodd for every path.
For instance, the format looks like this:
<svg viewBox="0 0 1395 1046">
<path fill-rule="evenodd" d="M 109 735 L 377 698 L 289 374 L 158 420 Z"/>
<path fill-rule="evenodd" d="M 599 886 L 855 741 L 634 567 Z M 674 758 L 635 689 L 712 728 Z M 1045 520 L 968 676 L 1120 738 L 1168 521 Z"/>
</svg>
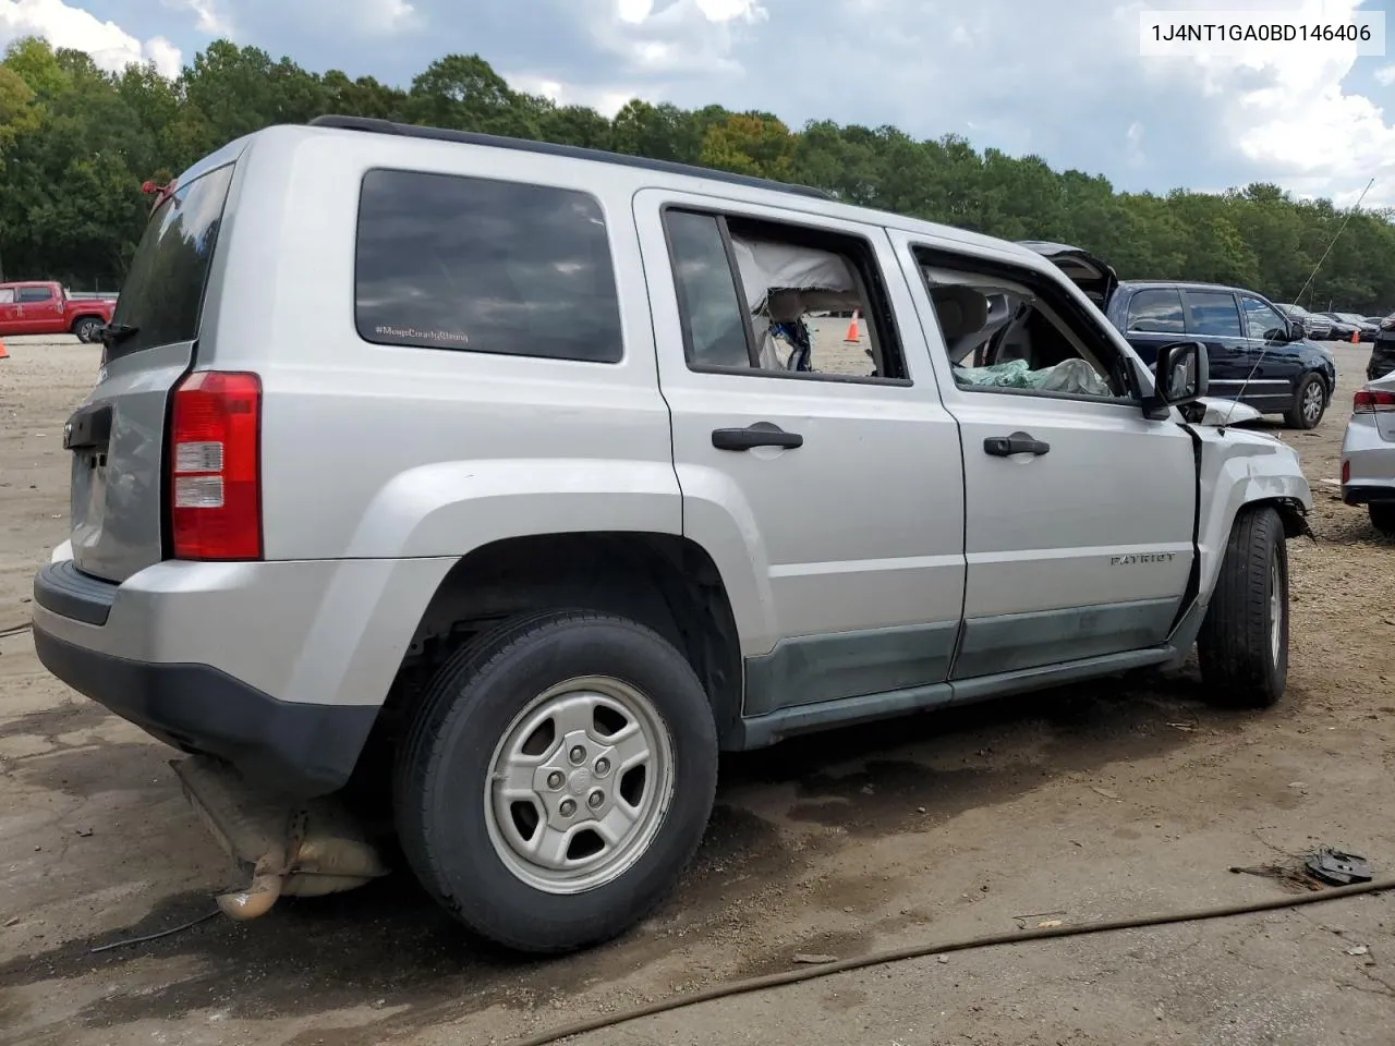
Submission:
<svg viewBox="0 0 1395 1046">
<path fill-rule="evenodd" d="M 261 379 L 197 371 L 174 389 L 169 484 L 176 559 L 259 559 Z"/>
</svg>

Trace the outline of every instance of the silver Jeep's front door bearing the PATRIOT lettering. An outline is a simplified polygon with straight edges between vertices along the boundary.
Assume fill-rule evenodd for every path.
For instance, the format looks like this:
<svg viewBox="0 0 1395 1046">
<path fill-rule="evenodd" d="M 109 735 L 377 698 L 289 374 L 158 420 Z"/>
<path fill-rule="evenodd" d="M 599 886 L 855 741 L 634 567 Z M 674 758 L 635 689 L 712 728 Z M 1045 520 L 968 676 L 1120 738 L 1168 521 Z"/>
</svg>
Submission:
<svg viewBox="0 0 1395 1046">
<path fill-rule="evenodd" d="M 1122 336 L 1055 271 L 894 233 L 964 446 L 964 635 L 953 679 L 1163 644 L 1194 555 L 1190 434 L 1151 421 Z M 1006 296 L 985 367 L 950 361 Z M 935 344 L 940 342 L 940 344 Z M 956 353 L 957 356 L 957 353 Z M 972 358 L 972 357 L 960 357 Z"/>
</svg>

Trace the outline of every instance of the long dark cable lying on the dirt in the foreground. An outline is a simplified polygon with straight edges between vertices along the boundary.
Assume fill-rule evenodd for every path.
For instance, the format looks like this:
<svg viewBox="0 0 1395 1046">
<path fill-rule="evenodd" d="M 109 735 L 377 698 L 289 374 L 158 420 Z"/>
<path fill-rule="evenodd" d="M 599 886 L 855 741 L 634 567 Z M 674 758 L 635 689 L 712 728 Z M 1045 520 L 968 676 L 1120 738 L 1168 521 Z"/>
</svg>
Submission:
<svg viewBox="0 0 1395 1046">
<path fill-rule="evenodd" d="M 587 1032 L 614 1028 L 621 1024 L 638 1021 L 642 1017 L 654 1017 L 656 1014 L 681 1010 L 688 1006 L 696 1006 L 698 1003 L 710 1003 L 716 999 L 730 999 L 732 996 L 749 994 L 751 992 L 762 992 L 770 987 L 783 987 L 785 985 L 798 985 L 805 980 L 833 976 L 834 973 L 847 973 L 848 971 L 880 967 L 889 962 L 904 962 L 905 960 L 925 958 L 926 955 L 943 955 L 950 951 L 968 951 L 970 948 L 988 948 L 996 944 L 1024 944 L 1027 941 L 1046 940 L 1052 937 L 1081 937 L 1088 933 L 1136 930 L 1145 926 L 1166 926 L 1168 923 L 1177 922 L 1225 919 L 1235 915 L 1250 915 L 1251 912 L 1271 912 L 1279 908 L 1297 908 L 1304 904 L 1335 901 L 1342 897 L 1355 897 L 1357 894 L 1374 894 L 1382 890 L 1395 890 L 1395 879 L 1380 879 L 1370 883 L 1357 883 L 1355 886 L 1341 886 L 1332 890 L 1322 890 L 1320 893 L 1303 894 L 1299 897 L 1275 897 L 1268 901 L 1232 904 L 1221 908 L 1198 908 L 1190 912 L 1141 915 L 1130 919 L 1106 919 L 1103 922 L 1081 923 L 1080 926 L 1050 926 L 1039 930 L 1017 930 L 1016 933 L 990 933 L 983 937 L 968 937 L 965 940 L 949 941 L 943 944 L 911 944 L 903 948 L 873 951 L 868 955 L 841 960 L 838 962 L 829 962 L 822 967 L 806 967 L 804 969 L 791 969 L 785 973 L 767 973 L 766 976 L 751 978 L 748 980 L 734 980 L 725 985 L 714 985 L 713 987 L 704 987 L 703 990 L 693 992 L 692 994 L 674 996 L 671 999 L 661 999 L 657 1003 L 636 1006 L 633 1010 L 624 1010 L 615 1014 L 590 1017 L 572 1024 L 559 1025 L 547 1032 L 538 1032 L 537 1035 L 530 1035 L 523 1039 L 515 1039 L 509 1043 L 509 1046 L 548 1046 L 548 1043 L 571 1039 L 576 1035 L 586 1035 Z"/>
</svg>

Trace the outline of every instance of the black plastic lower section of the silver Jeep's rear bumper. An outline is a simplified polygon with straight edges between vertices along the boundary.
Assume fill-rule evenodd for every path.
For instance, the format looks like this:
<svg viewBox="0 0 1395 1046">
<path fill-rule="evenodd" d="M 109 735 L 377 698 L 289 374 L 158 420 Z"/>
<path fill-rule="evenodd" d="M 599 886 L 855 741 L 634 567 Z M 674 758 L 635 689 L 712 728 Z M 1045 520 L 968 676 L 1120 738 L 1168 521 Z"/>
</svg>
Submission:
<svg viewBox="0 0 1395 1046">
<path fill-rule="evenodd" d="M 279 702 L 209 665 L 130 661 L 39 623 L 33 647 L 59 679 L 165 743 L 225 759 L 296 798 L 343 787 L 378 714 L 372 706 Z"/>
</svg>

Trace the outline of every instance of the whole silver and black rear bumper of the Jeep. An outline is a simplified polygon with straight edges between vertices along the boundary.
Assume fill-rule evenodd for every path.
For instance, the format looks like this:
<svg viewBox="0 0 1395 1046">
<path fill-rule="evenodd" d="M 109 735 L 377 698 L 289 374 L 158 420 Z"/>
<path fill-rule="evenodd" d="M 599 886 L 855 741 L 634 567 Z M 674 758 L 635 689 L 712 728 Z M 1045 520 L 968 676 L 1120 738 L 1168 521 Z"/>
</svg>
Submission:
<svg viewBox="0 0 1395 1046">
<path fill-rule="evenodd" d="M 33 579 L 53 675 L 294 798 L 342 787 L 449 559 L 162 562 L 121 584 L 60 549 Z"/>
</svg>

